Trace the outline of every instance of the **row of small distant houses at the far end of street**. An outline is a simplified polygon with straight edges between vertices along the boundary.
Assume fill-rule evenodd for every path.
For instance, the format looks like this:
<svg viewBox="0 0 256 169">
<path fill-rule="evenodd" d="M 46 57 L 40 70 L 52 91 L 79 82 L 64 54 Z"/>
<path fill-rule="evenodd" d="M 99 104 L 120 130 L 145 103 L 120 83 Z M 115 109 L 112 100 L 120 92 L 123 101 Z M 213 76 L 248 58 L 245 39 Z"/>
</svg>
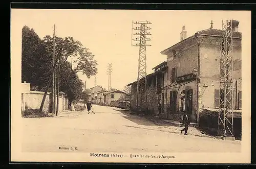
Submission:
<svg viewBox="0 0 256 169">
<path fill-rule="evenodd" d="M 121 90 L 108 91 L 102 86 L 94 86 L 91 88 L 91 94 L 89 94 L 89 101 L 97 105 L 111 105 L 115 101 L 129 101 L 130 94 Z"/>
</svg>

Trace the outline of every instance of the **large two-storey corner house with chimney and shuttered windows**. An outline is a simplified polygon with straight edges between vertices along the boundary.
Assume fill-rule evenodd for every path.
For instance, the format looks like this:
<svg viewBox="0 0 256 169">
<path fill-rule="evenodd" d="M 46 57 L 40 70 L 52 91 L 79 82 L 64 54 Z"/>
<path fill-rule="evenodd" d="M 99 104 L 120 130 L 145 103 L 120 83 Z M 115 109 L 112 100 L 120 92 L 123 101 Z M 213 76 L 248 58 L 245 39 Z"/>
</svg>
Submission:
<svg viewBox="0 0 256 169">
<path fill-rule="evenodd" d="M 177 120 L 181 112 L 186 111 L 193 122 L 198 122 L 203 109 L 218 111 L 220 53 L 222 31 L 213 29 L 199 31 L 186 38 L 185 27 L 181 32 L 181 41 L 161 52 L 167 55 L 167 83 L 162 90 L 165 100 L 163 115 L 167 119 Z M 238 21 L 233 20 L 233 86 L 234 108 L 242 109 L 241 39 Z M 193 74 L 194 73 L 196 74 Z M 181 95 L 184 94 L 182 105 Z M 165 97 L 164 97 L 165 96 Z M 167 107 L 170 107 L 168 110 Z"/>
</svg>

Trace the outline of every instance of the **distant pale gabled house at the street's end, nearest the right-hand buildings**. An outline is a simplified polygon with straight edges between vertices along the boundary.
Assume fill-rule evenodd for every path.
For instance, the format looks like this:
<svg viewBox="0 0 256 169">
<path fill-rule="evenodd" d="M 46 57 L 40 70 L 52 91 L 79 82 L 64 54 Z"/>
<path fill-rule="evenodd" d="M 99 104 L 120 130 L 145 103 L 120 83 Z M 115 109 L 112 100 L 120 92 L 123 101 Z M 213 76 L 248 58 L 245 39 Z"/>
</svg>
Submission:
<svg viewBox="0 0 256 169">
<path fill-rule="evenodd" d="M 130 94 L 121 90 L 115 90 L 104 93 L 104 100 L 106 105 L 111 105 L 111 102 L 130 100 Z"/>
</svg>

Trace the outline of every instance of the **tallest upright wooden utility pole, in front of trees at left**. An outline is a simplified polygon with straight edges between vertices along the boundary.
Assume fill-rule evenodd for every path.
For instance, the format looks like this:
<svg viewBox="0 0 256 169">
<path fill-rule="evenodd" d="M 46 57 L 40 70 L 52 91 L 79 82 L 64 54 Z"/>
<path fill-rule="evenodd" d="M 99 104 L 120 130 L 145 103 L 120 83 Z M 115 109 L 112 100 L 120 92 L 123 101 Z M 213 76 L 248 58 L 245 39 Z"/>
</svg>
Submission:
<svg viewBox="0 0 256 169">
<path fill-rule="evenodd" d="M 55 25 L 53 26 L 53 59 L 52 59 L 52 64 L 54 67 L 54 63 L 55 63 Z M 53 77 L 52 77 L 52 94 L 51 94 L 51 113 L 55 113 L 55 103 L 54 103 L 54 98 L 55 98 L 55 69 L 53 69 Z"/>
</svg>

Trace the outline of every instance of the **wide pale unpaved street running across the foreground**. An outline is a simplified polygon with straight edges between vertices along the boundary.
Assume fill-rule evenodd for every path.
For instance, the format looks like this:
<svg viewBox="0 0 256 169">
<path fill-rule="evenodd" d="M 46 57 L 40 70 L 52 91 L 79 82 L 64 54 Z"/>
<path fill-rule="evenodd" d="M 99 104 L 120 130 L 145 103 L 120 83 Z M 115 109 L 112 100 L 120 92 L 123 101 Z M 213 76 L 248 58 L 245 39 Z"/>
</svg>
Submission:
<svg viewBox="0 0 256 169">
<path fill-rule="evenodd" d="M 181 127 L 158 126 L 130 114 L 129 110 L 93 107 L 95 114 L 88 114 L 85 110 L 62 112 L 53 118 L 23 118 L 23 130 L 26 132 L 23 134 L 22 150 L 119 153 L 241 151 L 241 141 L 207 137 L 193 127 L 189 127 L 189 136 L 185 136 L 180 133 Z M 71 147 L 73 150 L 70 150 Z"/>
</svg>

